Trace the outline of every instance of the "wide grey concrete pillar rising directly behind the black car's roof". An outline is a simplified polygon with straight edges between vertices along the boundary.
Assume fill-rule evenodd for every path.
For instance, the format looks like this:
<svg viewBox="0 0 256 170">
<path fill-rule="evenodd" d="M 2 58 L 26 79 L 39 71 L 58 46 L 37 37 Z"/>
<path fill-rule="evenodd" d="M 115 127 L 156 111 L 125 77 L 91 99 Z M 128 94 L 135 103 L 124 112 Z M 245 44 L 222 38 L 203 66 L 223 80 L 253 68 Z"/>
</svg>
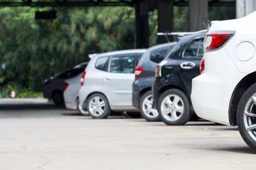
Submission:
<svg viewBox="0 0 256 170">
<path fill-rule="evenodd" d="M 189 29 L 190 32 L 206 29 L 208 24 L 208 1 L 189 0 Z"/>
</svg>

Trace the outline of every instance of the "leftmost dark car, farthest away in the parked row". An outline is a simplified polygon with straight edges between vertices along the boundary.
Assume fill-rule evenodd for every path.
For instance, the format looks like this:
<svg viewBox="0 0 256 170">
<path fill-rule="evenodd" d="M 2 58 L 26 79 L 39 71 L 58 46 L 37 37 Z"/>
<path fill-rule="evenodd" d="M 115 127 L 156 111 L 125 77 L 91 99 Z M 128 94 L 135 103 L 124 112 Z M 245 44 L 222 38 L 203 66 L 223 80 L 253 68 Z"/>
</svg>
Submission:
<svg viewBox="0 0 256 170">
<path fill-rule="evenodd" d="M 74 66 L 72 69 L 63 71 L 55 77 L 45 79 L 43 86 L 44 98 L 52 99 L 56 105 L 64 104 L 63 87 L 65 80 L 75 77 L 85 70 L 87 62 Z"/>
</svg>

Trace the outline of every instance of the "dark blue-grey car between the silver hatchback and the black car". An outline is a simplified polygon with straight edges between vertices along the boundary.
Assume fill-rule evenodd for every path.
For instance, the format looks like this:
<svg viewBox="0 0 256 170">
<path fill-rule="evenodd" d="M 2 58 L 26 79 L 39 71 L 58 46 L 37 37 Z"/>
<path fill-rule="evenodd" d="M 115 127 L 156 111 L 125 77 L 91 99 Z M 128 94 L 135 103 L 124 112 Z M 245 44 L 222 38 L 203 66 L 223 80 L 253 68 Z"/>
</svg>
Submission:
<svg viewBox="0 0 256 170">
<path fill-rule="evenodd" d="M 141 115 L 147 121 L 159 121 L 160 119 L 157 110 L 152 108 L 151 87 L 154 82 L 154 72 L 157 64 L 165 58 L 175 43 L 165 43 L 148 48 L 135 68 L 133 106 L 140 109 Z"/>
</svg>

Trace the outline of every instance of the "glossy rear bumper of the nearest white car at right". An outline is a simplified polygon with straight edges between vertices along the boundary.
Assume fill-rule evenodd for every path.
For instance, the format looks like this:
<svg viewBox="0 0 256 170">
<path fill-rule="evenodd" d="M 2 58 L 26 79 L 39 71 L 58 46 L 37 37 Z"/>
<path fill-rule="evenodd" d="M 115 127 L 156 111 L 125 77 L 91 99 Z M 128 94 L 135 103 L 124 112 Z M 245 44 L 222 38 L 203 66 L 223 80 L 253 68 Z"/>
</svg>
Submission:
<svg viewBox="0 0 256 170">
<path fill-rule="evenodd" d="M 192 80 L 191 100 L 196 114 L 213 122 L 230 125 L 230 99 L 245 75 L 237 70 L 224 49 L 206 53 L 204 73 Z"/>
</svg>

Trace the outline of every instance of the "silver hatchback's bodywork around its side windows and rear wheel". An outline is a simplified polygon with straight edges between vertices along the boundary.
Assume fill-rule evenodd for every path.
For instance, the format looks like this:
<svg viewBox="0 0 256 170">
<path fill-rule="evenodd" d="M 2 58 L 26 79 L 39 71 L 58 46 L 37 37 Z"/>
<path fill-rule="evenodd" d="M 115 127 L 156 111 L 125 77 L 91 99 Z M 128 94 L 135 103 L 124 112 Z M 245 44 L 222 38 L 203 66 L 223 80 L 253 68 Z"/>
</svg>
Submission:
<svg viewBox="0 0 256 170">
<path fill-rule="evenodd" d="M 94 55 L 86 67 L 85 84 L 79 91 L 80 107 L 85 104 L 88 96 L 99 92 L 106 96 L 111 110 L 138 111 L 132 106 L 132 84 L 135 74 L 100 71 L 95 68 L 95 64 L 102 56 L 145 53 L 145 51 L 145 49 L 133 49 Z"/>
</svg>

